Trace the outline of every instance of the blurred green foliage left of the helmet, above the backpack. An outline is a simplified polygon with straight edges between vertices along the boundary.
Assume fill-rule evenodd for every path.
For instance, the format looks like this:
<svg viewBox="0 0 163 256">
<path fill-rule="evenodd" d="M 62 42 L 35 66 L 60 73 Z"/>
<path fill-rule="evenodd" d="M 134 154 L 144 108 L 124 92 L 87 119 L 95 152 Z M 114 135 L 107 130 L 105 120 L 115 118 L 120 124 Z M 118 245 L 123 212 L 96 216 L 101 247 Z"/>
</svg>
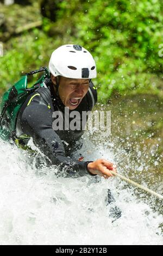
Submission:
<svg viewBox="0 0 163 256">
<path fill-rule="evenodd" d="M 49 40 L 53 46 L 53 40 Z M 9 88 L 24 72 L 29 72 L 40 66 L 51 56 L 51 49 L 47 49 L 46 36 L 35 29 L 32 35 L 24 34 L 21 38 L 12 40 L 11 50 L 4 51 L 1 57 L 1 89 Z M 17 47 L 18 46 L 18 47 Z M 45 50 L 46 48 L 46 50 Z M 12 84 L 11 84 L 12 83 Z"/>
</svg>

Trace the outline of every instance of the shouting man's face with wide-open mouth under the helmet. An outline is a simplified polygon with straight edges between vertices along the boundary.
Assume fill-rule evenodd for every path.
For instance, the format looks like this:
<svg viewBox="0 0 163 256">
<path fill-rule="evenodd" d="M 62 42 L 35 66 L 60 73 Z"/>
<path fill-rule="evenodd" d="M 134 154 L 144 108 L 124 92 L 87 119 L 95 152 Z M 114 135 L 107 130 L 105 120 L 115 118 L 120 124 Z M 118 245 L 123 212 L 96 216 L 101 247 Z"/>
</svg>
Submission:
<svg viewBox="0 0 163 256">
<path fill-rule="evenodd" d="M 55 84 L 54 80 L 55 77 L 53 76 L 52 82 Z M 88 89 L 89 79 L 60 77 L 58 88 L 59 96 L 62 103 L 71 110 L 79 106 Z"/>
</svg>

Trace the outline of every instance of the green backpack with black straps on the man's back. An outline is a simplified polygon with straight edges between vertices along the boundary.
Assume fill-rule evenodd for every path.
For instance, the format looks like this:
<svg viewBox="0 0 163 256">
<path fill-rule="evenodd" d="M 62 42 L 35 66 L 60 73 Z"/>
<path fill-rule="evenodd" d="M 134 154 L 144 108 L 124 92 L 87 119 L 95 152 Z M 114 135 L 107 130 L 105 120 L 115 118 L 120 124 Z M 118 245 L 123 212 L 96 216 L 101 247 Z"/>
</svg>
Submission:
<svg viewBox="0 0 163 256">
<path fill-rule="evenodd" d="M 28 76 L 34 75 L 38 72 L 44 72 L 39 80 L 31 87 L 27 88 Z M 1 102 L 1 115 L 0 115 L 0 137 L 4 141 L 10 141 L 10 139 L 17 139 L 15 135 L 16 119 L 18 112 L 27 96 L 33 93 L 38 86 L 43 87 L 43 81 L 49 77 L 49 72 L 46 67 L 42 67 L 38 70 L 30 71 L 25 76 L 14 84 L 7 92 L 4 93 Z"/>
</svg>

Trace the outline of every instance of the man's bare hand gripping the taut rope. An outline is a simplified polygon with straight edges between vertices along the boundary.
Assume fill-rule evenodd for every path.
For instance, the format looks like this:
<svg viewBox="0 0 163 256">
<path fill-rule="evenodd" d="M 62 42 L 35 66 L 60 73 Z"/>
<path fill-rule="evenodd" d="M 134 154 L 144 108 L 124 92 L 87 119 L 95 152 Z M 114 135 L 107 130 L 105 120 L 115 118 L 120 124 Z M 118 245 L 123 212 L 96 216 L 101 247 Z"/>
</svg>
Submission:
<svg viewBox="0 0 163 256">
<path fill-rule="evenodd" d="M 92 174 L 97 174 L 99 176 L 104 177 L 105 179 L 108 179 L 109 177 L 114 176 L 112 173 L 109 172 L 109 170 L 112 170 L 113 172 L 116 171 L 116 166 L 114 166 L 113 163 L 105 160 L 105 159 L 98 159 L 95 162 L 91 162 L 87 164 L 87 169 Z"/>
</svg>

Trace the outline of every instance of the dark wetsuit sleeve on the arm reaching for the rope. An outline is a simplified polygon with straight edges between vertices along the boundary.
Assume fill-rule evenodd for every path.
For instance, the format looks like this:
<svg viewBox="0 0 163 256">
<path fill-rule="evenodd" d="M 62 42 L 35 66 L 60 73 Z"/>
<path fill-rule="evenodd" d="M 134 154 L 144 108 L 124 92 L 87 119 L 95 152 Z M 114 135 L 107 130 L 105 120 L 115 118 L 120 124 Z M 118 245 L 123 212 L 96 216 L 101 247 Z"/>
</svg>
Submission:
<svg viewBox="0 0 163 256">
<path fill-rule="evenodd" d="M 53 130 L 52 111 L 45 103 L 41 103 L 39 94 L 23 110 L 21 128 L 24 133 L 33 138 L 33 142 L 46 156 L 49 166 L 57 165 L 64 176 L 83 176 L 90 174 L 87 164 L 65 156 L 64 145 Z M 90 174 L 91 175 L 91 174 Z"/>
</svg>

